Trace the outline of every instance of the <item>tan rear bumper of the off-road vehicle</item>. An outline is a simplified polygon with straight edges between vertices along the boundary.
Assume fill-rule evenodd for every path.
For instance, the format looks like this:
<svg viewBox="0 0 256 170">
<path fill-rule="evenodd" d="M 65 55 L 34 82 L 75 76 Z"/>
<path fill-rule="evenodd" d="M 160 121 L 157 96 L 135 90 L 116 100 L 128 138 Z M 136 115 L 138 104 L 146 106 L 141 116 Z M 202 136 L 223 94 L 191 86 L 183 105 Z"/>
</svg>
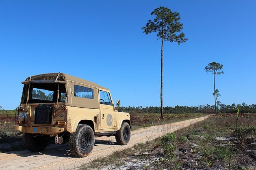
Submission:
<svg viewBox="0 0 256 170">
<path fill-rule="evenodd" d="M 58 134 L 65 131 L 65 129 L 61 127 L 40 127 L 40 126 L 19 126 L 19 125 L 14 125 L 13 130 L 18 130 L 26 133 L 35 133 L 35 134 Z"/>
</svg>

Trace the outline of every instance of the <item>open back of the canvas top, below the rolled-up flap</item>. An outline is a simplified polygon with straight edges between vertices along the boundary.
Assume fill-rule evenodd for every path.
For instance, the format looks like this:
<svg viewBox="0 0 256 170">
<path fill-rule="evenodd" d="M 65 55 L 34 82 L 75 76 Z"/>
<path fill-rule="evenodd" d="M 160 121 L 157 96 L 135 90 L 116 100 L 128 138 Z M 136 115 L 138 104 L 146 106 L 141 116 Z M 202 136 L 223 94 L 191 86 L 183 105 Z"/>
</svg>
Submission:
<svg viewBox="0 0 256 170">
<path fill-rule="evenodd" d="M 22 104 L 26 103 L 28 84 L 24 85 L 22 93 Z M 64 84 L 59 84 L 59 100 L 65 102 L 66 88 Z M 28 103 L 55 103 L 58 98 L 58 83 L 31 83 Z"/>
</svg>

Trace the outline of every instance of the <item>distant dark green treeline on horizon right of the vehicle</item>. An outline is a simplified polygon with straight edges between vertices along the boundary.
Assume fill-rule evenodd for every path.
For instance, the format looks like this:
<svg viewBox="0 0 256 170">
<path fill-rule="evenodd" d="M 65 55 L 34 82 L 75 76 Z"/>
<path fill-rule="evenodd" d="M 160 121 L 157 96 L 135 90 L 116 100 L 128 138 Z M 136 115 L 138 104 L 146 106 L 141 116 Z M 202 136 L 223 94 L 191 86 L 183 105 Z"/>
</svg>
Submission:
<svg viewBox="0 0 256 170">
<path fill-rule="evenodd" d="M 236 104 L 219 105 L 219 113 L 236 113 Z M 161 113 L 160 107 L 119 107 L 119 111 L 128 113 Z M 240 113 L 256 113 L 256 104 L 250 104 L 249 106 L 245 103 L 239 105 Z M 215 113 L 214 105 L 198 105 L 198 106 L 175 106 L 175 107 L 164 107 L 164 113 Z"/>
</svg>

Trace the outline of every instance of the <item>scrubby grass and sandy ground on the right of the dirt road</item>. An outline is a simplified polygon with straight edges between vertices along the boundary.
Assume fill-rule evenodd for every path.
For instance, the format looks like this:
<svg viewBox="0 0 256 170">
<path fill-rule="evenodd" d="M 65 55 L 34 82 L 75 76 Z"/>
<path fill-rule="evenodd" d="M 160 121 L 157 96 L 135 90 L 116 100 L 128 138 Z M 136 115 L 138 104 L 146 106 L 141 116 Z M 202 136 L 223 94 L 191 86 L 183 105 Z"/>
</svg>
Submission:
<svg viewBox="0 0 256 170">
<path fill-rule="evenodd" d="M 130 149 L 98 158 L 80 169 L 231 169 L 256 166 L 256 117 L 220 114 Z"/>
</svg>

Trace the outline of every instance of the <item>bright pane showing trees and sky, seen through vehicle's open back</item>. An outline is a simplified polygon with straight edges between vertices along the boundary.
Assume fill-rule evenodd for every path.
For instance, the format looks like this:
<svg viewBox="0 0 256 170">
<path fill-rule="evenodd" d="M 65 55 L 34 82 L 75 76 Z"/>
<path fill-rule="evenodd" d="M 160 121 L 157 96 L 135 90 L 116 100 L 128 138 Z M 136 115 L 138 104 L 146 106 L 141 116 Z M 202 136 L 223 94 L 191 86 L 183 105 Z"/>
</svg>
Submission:
<svg viewBox="0 0 256 170">
<path fill-rule="evenodd" d="M 32 99 L 53 101 L 53 91 L 33 88 Z"/>
</svg>

